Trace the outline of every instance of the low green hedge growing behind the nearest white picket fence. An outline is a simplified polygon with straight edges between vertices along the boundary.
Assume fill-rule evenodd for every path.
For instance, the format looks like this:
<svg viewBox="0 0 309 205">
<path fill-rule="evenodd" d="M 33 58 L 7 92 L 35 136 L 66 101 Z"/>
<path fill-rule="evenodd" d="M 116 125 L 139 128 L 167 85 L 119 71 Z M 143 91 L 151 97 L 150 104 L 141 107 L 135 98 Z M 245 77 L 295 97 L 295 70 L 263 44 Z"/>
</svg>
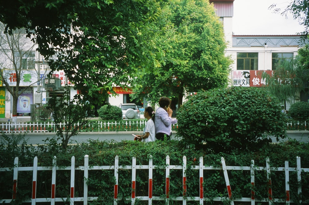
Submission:
<svg viewBox="0 0 309 205">
<path fill-rule="evenodd" d="M 55 139 L 49 139 L 46 145 L 40 145 L 37 149 L 32 146 L 18 146 L 17 137 L 2 136 L 0 144 L 0 167 L 14 167 L 13 162 L 16 156 L 19 157 L 19 166 L 33 166 L 33 158 L 38 157 L 39 166 L 52 166 L 53 156 L 57 157 L 57 166 L 65 167 L 71 163 L 71 157 L 75 156 L 75 166 L 84 165 L 84 156 L 89 155 L 89 167 L 91 166 L 113 166 L 115 156 L 119 156 L 119 165 L 131 165 L 132 157 L 136 157 L 136 164 L 148 165 L 149 156 L 153 156 L 154 165 L 166 166 L 166 156 L 170 156 L 171 165 L 182 165 L 183 156 L 187 157 L 187 196 L 199 195 L 199 170 L 190 169 L 190 166 L 198 165 L 200 156 L 204 158 L 205 166 L 221 166 L 221 157 L 225 158 L 228 166 L 250 166 L 251 160 L 255 160 L 256 166 L 265 166 L 265 158 L 269 157 L 272 167 L 284 167 L 285 160 L 289 161 L 290 167 L 296 167 L 296 156 L 301 157 L 301 166 L 309 168 L 309 146 L 307 143 L 288 141 L 285 143 L 269 144 L 257 152 L 231 152 L 230 154 L 210 154 L 207 151 L 184 149 L 179 141 L 155 141 L 153 143 L 141 143 L 137 141 L 97 141 L 91 140 L 80 145 L 71 145 L 67 152 L 63 152 L 61 146 Z M 19 137 L 23 140 L 23 137 Z M 26 143 L 26 142 L 24 142 Z M 130 170 L 119 170 L 119 197 L 131 196 L 131 175 Z M 230 184 L 233 197 L 250 197 L 250 173 L 249 171 L 229 171 Z M 57 170 L 56 197 L 69 196 L 70 170 Z M 255 174 L 256 199 L 267 198 L 266 171 L 258 171 Z M 285 177 L 284 172 L 271 174 L 273 198 L 285 198 Z M 31 198 L 32 172 L 19 172 L 18 199 L 21 202 Z M 182 170 L 171 170 L 170 172 L 170 204 L 173 198 L 182 195 Z M 2 172 L 0 175 L 0 199 L 10 199 L 12 196 L 12 172 Z M 112 204 L 113 186 L 115 183 L 114 170 L 89 170 L 88 196 L 98 196 L 99 201 L 89 204 Z M 49 198 L 51 184 L 51 171 L 39 171 L 37 180 L 37 197 Z M 148 192 L 148 170 L 137 170 L 136 174 L 136 196 L 147 196 Z M 297 200 L 297 176 L 290 172 L 290 196 Z M 228 197 L 226 184 L 222 170 L 204 171 L 204 197 Z M 165 196 L 165 169 L 155 169 L 153 173 L 153 196 Z M 75 171 L 75 196 L 83 196 L 83 171 Z M 309 200 L 309 174 L 302 173 L 302 200 Z M 308 201 L 307 201 L 308 202 Z M 118 204 L 130 204 L 130 201 L 121 201 Z M 211 203 L 211 202 L 210 202 Z M 227 202 L 226 202 L 227 203 Z M 137 202 L 136 204 L 147 204 Z M 153 204 L 164 204 L 155 202 Z M 177 203 L 179 204 L 179 202 Z M 197 204 L 197 202 L 187 202 Z"/>
</svg>

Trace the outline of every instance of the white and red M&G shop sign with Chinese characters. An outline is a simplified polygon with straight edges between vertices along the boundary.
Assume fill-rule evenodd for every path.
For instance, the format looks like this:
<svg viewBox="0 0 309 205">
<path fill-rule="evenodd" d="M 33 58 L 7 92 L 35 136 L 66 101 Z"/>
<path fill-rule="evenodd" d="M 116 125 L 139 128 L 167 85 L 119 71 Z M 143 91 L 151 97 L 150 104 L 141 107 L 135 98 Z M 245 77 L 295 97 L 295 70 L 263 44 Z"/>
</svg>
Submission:
<svg viewBox="0 0 309 205">
<path fill-rule="evenodd" d="M 232 82 L 233 86 L 243 87 L 261 87 L 265 86 L 265 79 L 262 74 L 266 72 L 272 75 L 272 70 L 233 70 Z"/>
</svg>

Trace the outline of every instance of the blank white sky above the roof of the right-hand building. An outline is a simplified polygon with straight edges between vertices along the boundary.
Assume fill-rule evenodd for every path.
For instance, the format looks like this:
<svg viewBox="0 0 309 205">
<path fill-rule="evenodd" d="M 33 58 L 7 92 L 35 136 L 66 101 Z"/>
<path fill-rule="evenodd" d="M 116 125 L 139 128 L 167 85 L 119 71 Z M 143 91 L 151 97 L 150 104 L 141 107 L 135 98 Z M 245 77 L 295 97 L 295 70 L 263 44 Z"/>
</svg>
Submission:
<svg viewBox="0 0 309 205">
<path fill-rule="evenodd" d="M 234 35 L 295 35 L 304 31 L 292 15 L 274 14 L 269 6 L 277 3 L 284 9 L 291 0 L 235 0 Z"/>
</svg>

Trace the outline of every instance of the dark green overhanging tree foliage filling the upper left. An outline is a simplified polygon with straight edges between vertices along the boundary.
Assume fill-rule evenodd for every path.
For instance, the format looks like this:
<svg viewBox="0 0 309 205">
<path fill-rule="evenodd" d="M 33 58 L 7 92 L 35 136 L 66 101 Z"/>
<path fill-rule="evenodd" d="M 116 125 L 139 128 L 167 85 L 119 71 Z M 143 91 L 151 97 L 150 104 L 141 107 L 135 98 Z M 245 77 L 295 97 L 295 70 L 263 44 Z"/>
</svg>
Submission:
<svg viewBox="0 0 309 205">
<path fill-rule="evenodd" d="M 124 87 L 137 68 L 160 66 L 160 48 L 147 34 L 159 22 L 156 1 L 20 0 L 1 1 L 0 8 L 6 31 L 26 28 L 46 59 L 57 57 L 49 61 L 52 71 L 63 70 L 85 97 L 95 97 L 92 103 L 112 86 Z"/>
</svg>

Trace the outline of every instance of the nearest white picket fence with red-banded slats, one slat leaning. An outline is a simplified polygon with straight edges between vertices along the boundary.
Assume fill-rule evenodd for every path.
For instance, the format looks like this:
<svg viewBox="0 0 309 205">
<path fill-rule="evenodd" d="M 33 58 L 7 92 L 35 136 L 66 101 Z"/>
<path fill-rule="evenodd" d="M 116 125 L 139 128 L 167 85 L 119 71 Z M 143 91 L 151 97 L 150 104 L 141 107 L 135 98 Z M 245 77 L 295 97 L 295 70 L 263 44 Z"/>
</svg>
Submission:
<svg viewBox="0 0 309 205">
<path fill-rule="evenodd" d="M 135 203 L 135 200 L 144 200 L 148 201 L 148 204 L 152 204 L 152 201 L 155 200 L 161 200 L 161 201 L 166 201 L 166 204 L 169 204 L 170 201 L 182 201 L 182 204 L 186 204 L 187 201 L 198 201 L 200 204 L 203 204 L 204 201 L 208 201 L 210 199 L 206 198 L 203 196 L 203 178 L 204 178 L 204 170 L 222 170 L 223 175 L 225 178 L 226 182 L 226 192 L 228 197 L 216 197 L 214 198 L 214 201 L 222 201 L 222 200 L 230 200 L 231 204 L 233 205 L 234 202 L 248 202 L 253 205 L 257 202 L 268 202 L 269 205 L 273 204 L 274 202 L 280 202 L 280 203 L 294 203 L 290 199 L 290 179 L 289 179 L 289 173 L 290 172 L 296 172 L 297 173 L 297 184 L 298 186 L 298 194 L 302 192 L 302 187 L 301 187 L 301 173 L 302 172 L 309 172 L 309 168 L 301 168 L 301 163 L 300 163 L 300 157 L 296 157 L 296 167 L 289 167 L 289 162 L 285 162 L 284 167 L 270 167 L 269 164 L 269 159 L 266 159 L 266 166 L 256 166 L 254 164 L 254 160 L 251 160 L 251 165 L 250 166 L 226 166 L 225 160 L 222 157 L 221 158 L 221 166 L 215 167 L 215 166 L 205 166 L 203 165 L 203 157 L 199 158 L 199 165 L 191 166 L 190 169 L 196 169 L 199 170 L 199 196 L 195 197 L 186 197 L 186 189 L 187 189 L 187 182 L 190 179 L 187 179 L 186 177 L 186 169 L 187 167 L 187 159 L 186 156 L 183 157 L 183 164 L 182 165 L 170 165 L 170 159 L 169 156 L 166 156 L 166 166 L 156 166 L 153 165 L 153 159 L 152 156 L 149 157 L 149 164 L 148 165 L 137 165 L 136 164 L 136 158 L 132 158 L 132 164 L 131 165 L 119 165 L 118 164 L 118 156 L 115 157 L 115 165 L 113 166 L 91 166 L 89 165 L 89 156 L 85 155 L 84 156 L 84 166 L 75 166 L 75 157 L 72 156 L 71 158 L 71 166 L 63 167 L 63 166 L 57 166 L 57 159 L 56 157 L 53 158 L 53 166 L 50 167 L 41 167 L 38 166 L 38 158 L 35 157 L 33 161 L 33 167 L 18 167 L 19 164 L 19 159 L 18 157 L 15 158 L 14 161 L 14 168 L 0 168 L 0 172 L 3 171 L 8 171 L 8 172 L 13 172 L 13 195 L 12 198 L 10 199 L 1 199 L 0 203 L 10 203 L 12 200 L 16 199 L 16 196 L 18 194 L 17 192 L 17 187 L 18 187 L 18 173 L 21 171 L 33 171 L 33 183 L 32 187 L 29 187 L 29 189 L 32 190 L 32 199 L 31 200 L 25 200 L 25 203 L 31 203 L 36 204 L 40 202 L 48 202 L 52 205 L 55 204 L 55 202 L 62 202 L 69 200 L 70 204 L 73 205 L 74 202 L 83 202 L 84 205 L 87 205 L 88 201 L 93 201 L 97 199 L 98 197 L 89 197 L 88 196 L 88 186 L 87 186 L 87 179 L 88 179 L 88 171 L 89 170 L 114 170 L 114 176 L 116 178 L 116 183 L 114 185 L 114 205 L 118 204 L 118 201 L 120 200 L 131 200 L 131 204 Z M 129 169 L 130 173 L 132 173 L 132 194 L 129 199 L 119 199 L 118 198 L 118 170 L 120 169 Z M 149 181 L 148 181 L 148 195 L 147 196 L 136 196 L 135 195 L 135 187 L 136 187 L 136 170 L 137 169 L 148 169 L 149 170 Z M 152 176 L 153 176 L 153 170 L 154 169 L 165 169 L 166 172 L 166 178 L 165 182 L 162 182 L 166 186 L 166 197 L 159 197 L 159 196 L 153 196 L 152 190 L 153 190 L 153 183 L 152 183 Z M 176 198 L 169 198 L 169 185 L 171 180 L 174 180 L 173 178 L 170 178 L 170 170 L 172 169 L 180 169 L 182 170 L 182 178 L 183 178 L 183 193 L 181 196 L 178 196 Z M 50 185 L 51 189 L 51 196 L 50 198 L 37 198 L 36 197 L 36 186 L 37 186 L 37 172 L 42 171 L 42 170 L 49 170 L 52 172 L 52 182 Z M 60 170 L 70 170 L 71 172 L 71 180 L 70 180 L 70 199 L 67 199 L 67 197 L 61 197 L 61 198 L 56 198 L 55 193 L 56 193 L 56 173 L 60 174 Z M 75 190 L 75 170 L 82 170 L 84 172 L 84 192 L 83 196 L 75 196 L 74 195 L 74 190 Z M 227 170 L 247 170 L 248 173 L 250 173 L 251 176 L 251 184 L 252 188 L 251 190 L 248 190 L 248 193 L 251 193 L 250 197 L 246 198 L 241 198 L 241 199 L 235 199 L 233 198 L 233 190 L 231 190 L 231 186 L 229 183 L 229 176 L 228 176 L 228 171 Z M 285 188 L 286 188 L 286 198 L 285 199 L 274 199 L 273 194 L 272 194 L 272 188 L 269 186 L 268 189 L 268 198 L 265 199 L 255 199 L 255 193 L 254 193 L 254 186 L 255 186 L 255 173 L 258 171 L 266 171 L 267 172 L 267 182 L 269 182 L 269 185 L 271 185 L 271 172 L 284 172 L 285 173 Z M 308 185 L 307 185 L 308 186 Z M 8 186 L 9 187 L 9 186 Z M 250 188 L 249 188 L 250 189 Z M 300 201 L 301 202 L 301 201 Z M 299 202 L 299 203 L 300 203 Z"/>
</svg>

